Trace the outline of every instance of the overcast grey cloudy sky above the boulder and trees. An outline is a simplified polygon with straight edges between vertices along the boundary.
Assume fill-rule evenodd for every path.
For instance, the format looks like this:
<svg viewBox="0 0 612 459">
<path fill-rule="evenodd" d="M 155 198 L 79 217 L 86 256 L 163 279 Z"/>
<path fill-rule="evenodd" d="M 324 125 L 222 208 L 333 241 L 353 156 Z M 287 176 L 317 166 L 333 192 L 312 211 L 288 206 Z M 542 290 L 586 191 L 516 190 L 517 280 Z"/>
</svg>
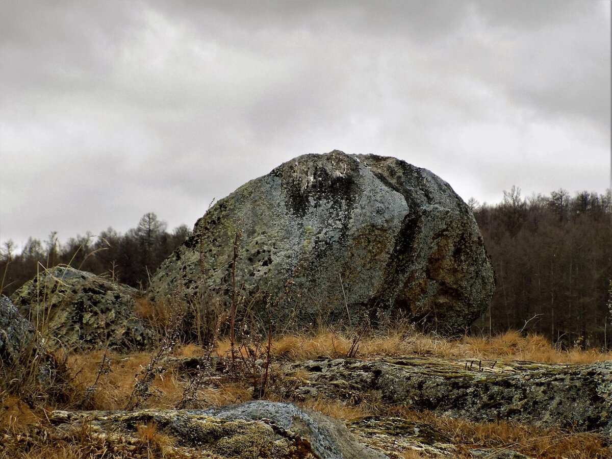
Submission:
<svg viewBox="0 0 612 459">
<path fill-rule="evenodd" d="M 333 149 L 605 192 L 610 1 L 0 0 L 2 242 L 192 227 Z"/>
</svg>

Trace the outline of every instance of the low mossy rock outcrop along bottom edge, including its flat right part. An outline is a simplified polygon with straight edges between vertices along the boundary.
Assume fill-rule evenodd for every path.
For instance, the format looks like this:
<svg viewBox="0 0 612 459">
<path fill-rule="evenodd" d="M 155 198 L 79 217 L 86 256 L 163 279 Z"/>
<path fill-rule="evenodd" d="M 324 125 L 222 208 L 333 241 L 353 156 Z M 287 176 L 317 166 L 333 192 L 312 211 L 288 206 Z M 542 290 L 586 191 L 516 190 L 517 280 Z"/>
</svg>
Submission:
<svg viewBox="0 0 612 459">
<path fill-rule="evenodd" d="M 164 457 L 261 459 L 402 459 L 458 456 L 458 447 L 430 425 L 398 417 L 335 420 L 290 403 L 252 401 L 206 410 L 53 411 L 58 439 L 104 439 L 122 450 L 142 444 L 138 431 L 154 426 Z M 528 459 L 511 450 L 465 446 L 474 458 Z"/>
</svg>

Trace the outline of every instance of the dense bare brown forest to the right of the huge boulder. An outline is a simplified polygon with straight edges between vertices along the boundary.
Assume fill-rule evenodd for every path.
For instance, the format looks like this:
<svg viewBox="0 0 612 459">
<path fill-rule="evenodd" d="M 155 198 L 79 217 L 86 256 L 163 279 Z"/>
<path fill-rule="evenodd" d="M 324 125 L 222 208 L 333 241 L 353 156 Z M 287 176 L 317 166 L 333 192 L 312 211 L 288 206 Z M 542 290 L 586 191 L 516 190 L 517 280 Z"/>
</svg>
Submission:
<svg viewBox="0 0 612 459">
<path fill-rule="evenodd" d="M 610 192 L 565 190 L 494 206 L 468 203 L 496 273 L 490 310 L 473 329 L 537 332 L 563 346 L 612 346 Z"/>
</svg>

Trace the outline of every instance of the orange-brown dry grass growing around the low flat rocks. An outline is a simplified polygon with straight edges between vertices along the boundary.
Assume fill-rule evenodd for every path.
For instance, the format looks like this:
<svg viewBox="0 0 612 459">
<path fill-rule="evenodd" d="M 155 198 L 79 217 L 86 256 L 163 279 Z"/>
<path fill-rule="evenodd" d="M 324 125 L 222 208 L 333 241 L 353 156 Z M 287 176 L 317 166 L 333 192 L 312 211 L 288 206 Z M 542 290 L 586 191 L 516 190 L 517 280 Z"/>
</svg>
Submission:
<svg viewBox="0 0 612 459">
<path fill-rule="evenodd" d="M 293 401 L 343 420 L 376 415 L 424 422 L 452 439 L 460 457 L 469 457 L 468 446 L 516 450 L 542 458 L 603 458 L 610 453 L 606 449 L 610 439 L 595 433 L 539 429 L 505 421 L 476 424 L 435 416 L 427 411 L 414 411 L 406 406 L 389 406 L 376 400 L 359 404 L 323 398 L 299 401 L 291 397 L 290 391 L 283 392 L 278 388 L 291 387 L 302 377 L 299 373 L 286 372 L 283 367 L 287 362 L 319 357 L 377 359 L 418 355 L 449 360 L 589 364 L 612 360 L 611 353 L 595 349 L 557 349 L 542 337 L 524 337 L 518 332 L 448 340 L 408 328 L 394 330 L 385 336 L 343 334 L 333 330 L 321 330 L 311 335 L 286 335 L 261 343 L 236 343 L 234 354 L 232 362 L 231 343 L 227 339 L 218 340 L 212 348 L 165 343 L 154 353 L 58 351 L 56 357 L 69 375 L 64 383 L 67 385 L 63 390 L 66 396 L 62 400 L 26 403 L 28 399 L 34 400 L 28 397 L 36 392 L 34 386 L 21 387 L 18 394 L 14 390 L 2 391 L 0 455 L 11 458 L 182 457 L 176 449 L 168 455 L 167 446 L 173 445 L 174 439 L 157 432 L 155 425 L 138 427 L 140 441 L 134 444 L 111 444 L 85 428 L 80 435 L 58 441 L 48 422 L 48 412 L 51 409 L 208 408 L 240 403 L 253 397 Z M 179 364 L 189 358 L 214 362 L 212 366 L 217 368 L 203 364 L 195 373 L 186 376 L 184 371 L 179 371 Z M 220 371 L 220 367 L 225 370 Z M 263 368 L 266 369 L 266 381 L 263 380 Z M 139 395 L 139 382 L 147 387 L 146 396 Z M 400 457 L 429 456 L 406 450 Z"/>
</svg>

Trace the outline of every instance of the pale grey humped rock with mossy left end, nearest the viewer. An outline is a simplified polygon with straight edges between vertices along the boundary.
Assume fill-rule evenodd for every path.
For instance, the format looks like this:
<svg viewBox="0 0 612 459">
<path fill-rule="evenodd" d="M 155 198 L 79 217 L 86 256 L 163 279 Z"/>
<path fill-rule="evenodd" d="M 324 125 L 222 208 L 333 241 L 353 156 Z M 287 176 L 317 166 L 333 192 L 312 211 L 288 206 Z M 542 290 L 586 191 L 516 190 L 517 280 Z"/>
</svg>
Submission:
<svg viewBox="0 0 612 459">
<path fill-rule="evenodd" d="M 295 459 L 383 459 L 387 456 L 357 442 L 343 422 L 289 403 L 254 401 L 219 409 L 141 411 L 53 411 L 51 422 L 67 433 L 84 422 L 106 438 L 136 436 L 138 425 L 156 431 L 209 457 Z M 194 451 L 195 450 L 195 451 Z M 216 456 L 215 456 L 216 457 Z"/>
</svg>

